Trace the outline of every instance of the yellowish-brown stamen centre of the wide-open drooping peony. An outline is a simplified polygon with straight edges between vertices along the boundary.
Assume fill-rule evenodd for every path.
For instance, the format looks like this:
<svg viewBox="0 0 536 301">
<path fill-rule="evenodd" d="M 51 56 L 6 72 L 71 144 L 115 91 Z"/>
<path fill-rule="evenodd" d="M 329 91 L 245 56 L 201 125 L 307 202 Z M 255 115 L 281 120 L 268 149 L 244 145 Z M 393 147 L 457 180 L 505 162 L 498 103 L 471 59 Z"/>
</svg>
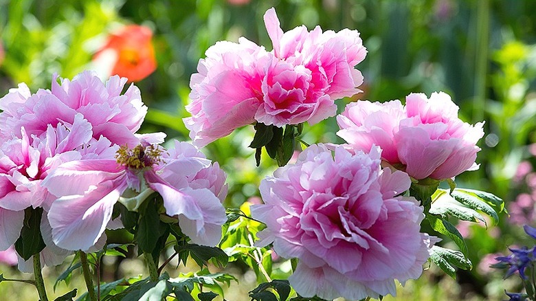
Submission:
<svg viewBox="0 0 536 301">
<path fill-rule="evenodd" d="M 118 164 L 129 166 L 130 168 L 142 169 L 153 166 L 153 164 L 161 161 L 161 153 L 162 150 L 154 145 L 138 145 L 135 148 L 121 146 L 115 155 L 115 159 L 117 159 Z"/>
</svg>

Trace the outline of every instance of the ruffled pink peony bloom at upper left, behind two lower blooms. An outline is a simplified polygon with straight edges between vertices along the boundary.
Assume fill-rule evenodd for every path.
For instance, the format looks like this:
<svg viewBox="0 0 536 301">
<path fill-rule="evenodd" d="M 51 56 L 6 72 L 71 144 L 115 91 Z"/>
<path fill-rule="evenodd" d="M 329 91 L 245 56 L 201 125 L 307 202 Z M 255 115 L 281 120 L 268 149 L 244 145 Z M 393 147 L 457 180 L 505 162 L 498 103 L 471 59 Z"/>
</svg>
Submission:
<svg viewBox="0 0 536 301">
<path fill-rule="evenodd" d="M 42 135 L 49 124 L 73 124 L 75 115 L 82 114 L 91 124 L 95 139 L 106 137 L 113 144 L 137 144 L 134 133 L 142 125 L 147 113 L 139 89 L 131 85 L 121 94 L 126 78 L 112 76 L 103 83 L 91 71 L 84 71 L 72 81 L 52 77 L 52 91 L 30 93 L 24 84 L 0 99 L 0 136 L 21 138 L 24 127 L 27 135 Z"/>
</svg>

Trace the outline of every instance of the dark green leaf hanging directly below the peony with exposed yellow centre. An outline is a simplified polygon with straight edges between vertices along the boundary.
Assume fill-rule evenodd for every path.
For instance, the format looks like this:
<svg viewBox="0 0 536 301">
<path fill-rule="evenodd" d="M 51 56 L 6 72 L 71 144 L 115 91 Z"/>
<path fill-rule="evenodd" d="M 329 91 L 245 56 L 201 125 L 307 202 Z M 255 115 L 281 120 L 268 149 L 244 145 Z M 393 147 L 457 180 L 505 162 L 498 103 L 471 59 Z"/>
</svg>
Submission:
<svg viewBox="0 0 536 301">
<path fill-rule="evenodd" d="M 166 234 L 166 224 L 160 221 L 157 202 L 154 200 L 150 200 L 140 214 L 134 239 L 144 253 L 153 253 L 161 236 Z"/>
</svg>

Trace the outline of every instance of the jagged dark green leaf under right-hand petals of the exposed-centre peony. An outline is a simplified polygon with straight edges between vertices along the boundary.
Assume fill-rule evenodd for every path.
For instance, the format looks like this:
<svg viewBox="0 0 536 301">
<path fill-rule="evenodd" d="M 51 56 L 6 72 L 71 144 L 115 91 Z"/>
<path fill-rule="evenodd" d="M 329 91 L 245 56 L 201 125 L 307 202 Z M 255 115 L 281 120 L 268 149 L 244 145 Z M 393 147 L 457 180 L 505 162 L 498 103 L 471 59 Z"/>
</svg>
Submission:
<svg viewBox="0 0 536 301">
<path fill-rule="evenodd" d="M 183 260 L 183 263 L 186 265 L 186 258 L 191 256 L 192 259 L 199 265 L 203 267 L 208 265 L 208 261 L 211 260 L 212 263 L 218 265 L 219 267 L 225 267 L 229 262 L 229 256 L 219 247 L 208 247 L 205 245 L 195 245 L 195 244 L 186 244 L 186 245 L 175 245 L 175 251 L 179 253 L 179 258 Z"/>
</svg>

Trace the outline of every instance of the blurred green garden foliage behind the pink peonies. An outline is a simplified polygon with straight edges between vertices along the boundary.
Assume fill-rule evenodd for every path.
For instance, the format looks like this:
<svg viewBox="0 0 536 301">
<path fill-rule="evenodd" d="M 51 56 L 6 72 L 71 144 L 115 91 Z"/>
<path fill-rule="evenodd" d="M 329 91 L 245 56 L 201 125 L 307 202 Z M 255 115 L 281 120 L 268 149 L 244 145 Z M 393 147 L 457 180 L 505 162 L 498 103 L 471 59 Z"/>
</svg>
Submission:
<svg viewBox="0 0 536 301">
<path fill-rule="evenodd" d="M 368 49 L 357 66 L 364 74 L 364 93 L 339 100 L 339 111 L 358 99 L 403 100 L 411 92 L 446 91 L 463 120 L 486 122 L 480 170 L 456 182 L 502 197 L 511 216 L 504 214 L 498 227 L 488 229 L 458 225 L 475 269 L 460 272 L 456 283 L 432 268 L 408 282 L 399 300 L 500 300 L 504 285 L 519 289 L 487 266 L 493 259 L 489 254 L 531 243 L 523 241 L 520 225 L 536 225 L 536 1 L 0 0 L 0 95 L 19 82 L 34 92 L 50 87 L 54 73 L 72 78 L 92 69 L 93 54 L 109 34 L 124 25 L 144 25 L 153 31 L 157 69 L 136 82 L 149 107 L 142 132 L 164 131 L 168 139 L 188 140 L 181 118 L 188 116 L 188 84 L 199 58 L 216 41 L 240 36 L 270 50 L 263 14 L 272 6 L 283 30 L 304 24 L 361 32 Z M 336 131 L 331 118 L 306 126 L 302 138 L 342 142 Z M 254 150 L 247 148 L 252 135 L 252 128 L 241 129 L 204 149 L 229 174 L 229 207 L 258 201 L 260 179 L 275 168 L 267 158 L 260 168 L 254 166 Z M 251 289 L 247 277 L 243 291 Z M 0 285 L 0 299 L 13 289 Z M 229 300 L 240 300 L 232 294 Z"/>
</svg>

